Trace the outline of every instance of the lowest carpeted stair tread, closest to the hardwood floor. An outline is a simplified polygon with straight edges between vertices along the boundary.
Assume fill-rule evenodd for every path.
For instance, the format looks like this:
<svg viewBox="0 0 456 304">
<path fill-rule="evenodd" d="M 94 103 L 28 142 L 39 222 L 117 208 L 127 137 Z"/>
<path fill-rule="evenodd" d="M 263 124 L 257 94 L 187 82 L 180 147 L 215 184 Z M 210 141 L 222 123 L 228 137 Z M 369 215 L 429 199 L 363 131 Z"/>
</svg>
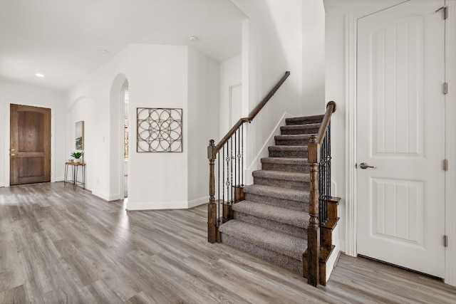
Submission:
<svg viewBox="0 0 456 304">
<path fill-rule="evenodd" d="M 266 248 L 296 260 L 302 259 L 302 255 L 307 248 L 306 239 L 282 234 L 236 219 L 220 225 L 219 231 L 222 234 L 228 234 L 234 238 L 252 243 L 254 246 Z"/>
</svg>

